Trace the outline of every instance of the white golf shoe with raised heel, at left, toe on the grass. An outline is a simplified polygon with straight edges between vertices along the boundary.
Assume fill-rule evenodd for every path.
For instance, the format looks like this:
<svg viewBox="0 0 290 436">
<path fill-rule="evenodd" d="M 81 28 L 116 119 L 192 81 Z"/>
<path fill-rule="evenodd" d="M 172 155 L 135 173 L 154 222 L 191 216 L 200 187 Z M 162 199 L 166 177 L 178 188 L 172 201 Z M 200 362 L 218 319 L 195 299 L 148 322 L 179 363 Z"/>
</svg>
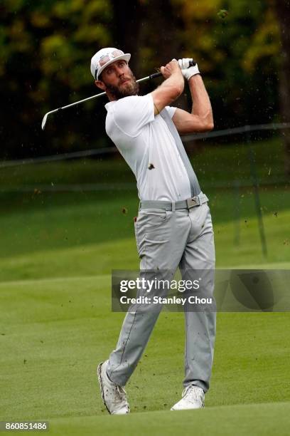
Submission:
<svg viewBox="0 0 290 436">
<path fill-rule="evenodd" d="M 122 386 L 115 385 L 107 376 L 107 362 L 101 362 L 97 367 L 97 378 L 100 383 L 102 400 L 111 415 L 126 415 L 129 413 L 129 404 L 126 392 Z"/>
</svg>

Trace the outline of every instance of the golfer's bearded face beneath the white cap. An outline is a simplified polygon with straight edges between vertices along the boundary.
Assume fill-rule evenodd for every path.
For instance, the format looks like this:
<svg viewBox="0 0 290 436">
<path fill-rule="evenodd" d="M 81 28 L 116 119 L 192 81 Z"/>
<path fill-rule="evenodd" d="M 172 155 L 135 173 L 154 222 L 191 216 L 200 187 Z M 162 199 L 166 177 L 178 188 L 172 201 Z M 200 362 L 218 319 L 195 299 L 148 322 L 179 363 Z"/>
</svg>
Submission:
<svg viewBox="0 0 290 436">
<path fill-rule="evenodd" d="M 104 68 L 100 79 L 95 82 L 99 88 L 105 90 L 114 100 L 137 95 L 139 85 L 126 61 L 115 61 Z"/>
</svg>

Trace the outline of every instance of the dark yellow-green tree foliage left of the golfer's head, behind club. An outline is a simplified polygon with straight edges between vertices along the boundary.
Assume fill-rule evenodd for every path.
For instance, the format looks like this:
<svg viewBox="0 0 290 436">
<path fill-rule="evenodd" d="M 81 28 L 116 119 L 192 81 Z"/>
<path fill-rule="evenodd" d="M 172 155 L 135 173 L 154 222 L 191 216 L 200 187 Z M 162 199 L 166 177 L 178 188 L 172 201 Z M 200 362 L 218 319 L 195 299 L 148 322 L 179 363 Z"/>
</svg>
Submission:
<svg viewBox="0 0 290 436">
<path fill-rule="evenodd" d="M 97 91 L 90 75 L 90 57 L 112 42 L 110 2 L 102 0 L 48 0 L 1 3 L 1 154 L 33 155 L 83 144 L 87 109 L 55 118 L 43 135 L 43 114 Z M 86 130 L 87 129 L 87 130 Z M 99 138 L 101 135 L 98 136 Z"/>
</svg>

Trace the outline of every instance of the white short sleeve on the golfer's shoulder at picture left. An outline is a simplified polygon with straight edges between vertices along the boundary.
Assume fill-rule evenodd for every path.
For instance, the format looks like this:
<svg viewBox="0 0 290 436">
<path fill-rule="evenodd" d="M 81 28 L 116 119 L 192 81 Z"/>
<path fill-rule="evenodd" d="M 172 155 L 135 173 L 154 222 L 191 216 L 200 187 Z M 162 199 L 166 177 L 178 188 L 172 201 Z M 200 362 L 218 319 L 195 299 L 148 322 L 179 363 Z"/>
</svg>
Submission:
<svg viewBox="0 0 290 436">
<path fill-rule="evenodd" d="M 151 94 L 121 98 L 114 105 L 113 118 L 117 127 L 126 135 L 139 135 L 141 128 L 154 120 Z"/>
</svg>

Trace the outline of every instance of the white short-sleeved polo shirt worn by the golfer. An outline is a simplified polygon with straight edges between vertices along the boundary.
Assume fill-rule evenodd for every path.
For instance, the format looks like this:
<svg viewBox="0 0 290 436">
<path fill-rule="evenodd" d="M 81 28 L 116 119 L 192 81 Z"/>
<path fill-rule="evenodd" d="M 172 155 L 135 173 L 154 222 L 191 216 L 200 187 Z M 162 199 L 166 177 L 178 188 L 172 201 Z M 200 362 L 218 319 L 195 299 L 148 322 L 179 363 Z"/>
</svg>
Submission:
<svg viewBox="0 0 290 436">
<path fill-rule="evenodd" d="M 186 167 L 151 94 L 105 105 L 106 132 L 134 172 L 139 199 L 176 202 L 191 197 Z M 176 108 L 166 106 L 171 118 Z"/>
</svg>

